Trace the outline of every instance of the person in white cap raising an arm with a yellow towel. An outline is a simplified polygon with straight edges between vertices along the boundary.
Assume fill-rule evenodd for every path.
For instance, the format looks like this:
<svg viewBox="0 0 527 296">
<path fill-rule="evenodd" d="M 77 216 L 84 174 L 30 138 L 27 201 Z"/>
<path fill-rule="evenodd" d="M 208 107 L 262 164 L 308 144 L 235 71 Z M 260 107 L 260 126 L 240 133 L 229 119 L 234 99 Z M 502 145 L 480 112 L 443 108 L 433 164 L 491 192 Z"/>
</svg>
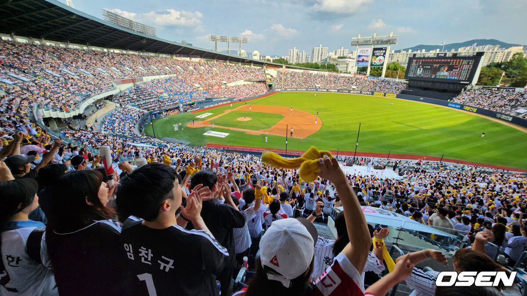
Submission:
<svg viewBox="0 0 527 296">
<path fill-rule="evenodd" d="M 364 295 L 363 272 L 372 241 L 358 200 L 335 158 L 318 160 L 320 177 L 333 182 L 343 201 L 350 242 L 331 267 L 316 282 L 309 283 L 313 270 L 317 231 L 306 219 L 282 219 L 272 223 L 260 241 L 260 260 L 248 288 L 235 295 Z M 409 273 L 407 257 L 393 273 L 366 292 L 384 295 Z M 383 293 L 384 292 L 384 293 Z"/>
</svg>

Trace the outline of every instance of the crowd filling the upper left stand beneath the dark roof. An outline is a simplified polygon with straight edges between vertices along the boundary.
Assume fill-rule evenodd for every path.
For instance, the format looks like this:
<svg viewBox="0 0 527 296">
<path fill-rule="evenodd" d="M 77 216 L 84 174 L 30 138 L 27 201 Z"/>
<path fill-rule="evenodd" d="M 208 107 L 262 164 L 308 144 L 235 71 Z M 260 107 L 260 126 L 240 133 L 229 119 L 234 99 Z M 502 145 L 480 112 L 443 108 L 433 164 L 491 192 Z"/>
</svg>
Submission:
<svg viewBox="0 0 527 296">
<path fill-rule="evenodd" d="M 239 80 L 264 80 L 262 68 L 202 62 L 169 56 L 77 50 L 2 40 L 0 86 L 12 106 L 41 104 L 74 110 L 83 100 L 109 91 L 112 81 L 128 77 L 179 74 L 167 82 L 173 93 L 219 87 Z M 163 85 L 154 87 L 164 89 Z M 198 93 L 197 96 L 200 94 Z M 197 98 L 181 97 L 183 101 Z"/>
</svg>

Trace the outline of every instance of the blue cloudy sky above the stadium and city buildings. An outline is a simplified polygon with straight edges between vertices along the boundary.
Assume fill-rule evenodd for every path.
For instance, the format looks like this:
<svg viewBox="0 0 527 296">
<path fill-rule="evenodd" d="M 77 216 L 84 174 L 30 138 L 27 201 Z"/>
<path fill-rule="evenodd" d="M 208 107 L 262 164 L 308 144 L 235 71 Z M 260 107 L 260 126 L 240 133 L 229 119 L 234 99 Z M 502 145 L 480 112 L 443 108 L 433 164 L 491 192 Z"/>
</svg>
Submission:
<svg viewBox="0 0 527 296">
<path fill-rule="evenodd" d="M 208 36 L 223 35 L 247 37 L 248 44 L 242 45 L 247 53 L 286 56 L 295 46 L 311 55 L 319 44 L 329 51 L 341 46 L 354 50 L 350 41 L 358 34 L 391 32 L 399 36 L 392 50 L 480 38 L 527 45 L 527 0 L 72 1 L 75 9 L 92 16 L 102 18 L 102 9 L 109 9 L 154 26 L 158 37 L 208 50 L 214 48 Z"/>
</svg>

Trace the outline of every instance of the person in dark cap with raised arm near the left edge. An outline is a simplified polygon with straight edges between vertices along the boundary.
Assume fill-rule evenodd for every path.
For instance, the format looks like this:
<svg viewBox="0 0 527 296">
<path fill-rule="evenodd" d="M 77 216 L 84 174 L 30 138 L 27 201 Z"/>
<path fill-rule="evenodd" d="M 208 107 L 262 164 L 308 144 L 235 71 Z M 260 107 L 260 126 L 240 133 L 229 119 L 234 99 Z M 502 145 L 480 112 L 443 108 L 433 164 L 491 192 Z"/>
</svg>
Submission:
<svg viewBox="0 0 527 296">
<path fill-rule="evenodd" d="M 9 167 L 9 170 L 11 170 L 11 173 L 15 179 L 22 177 L 35 179 L 38 171 L 53 160 L 55 152 L 58 150 L 58 147 L 60 147 L 61 144 L 61 139 L 55 139 L 51 151 L 44 153 L 42 156 L 42 161 L 38 163 L 34 169 L 31 169 L 31 163 L 35 160 L 35 155 L 11 155 L 7 157 L 4 162 L 7 167 Z"/>
</svg>

